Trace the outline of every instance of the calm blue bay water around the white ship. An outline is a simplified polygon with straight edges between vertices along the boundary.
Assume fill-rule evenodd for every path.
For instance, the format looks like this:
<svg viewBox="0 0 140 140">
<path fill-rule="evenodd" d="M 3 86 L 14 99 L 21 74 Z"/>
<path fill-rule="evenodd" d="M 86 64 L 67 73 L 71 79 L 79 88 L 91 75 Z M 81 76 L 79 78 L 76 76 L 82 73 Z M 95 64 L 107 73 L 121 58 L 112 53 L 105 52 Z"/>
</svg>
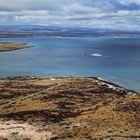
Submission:
<svg viewBox="0 0 140 140">
<path fill-rule="evenodd" d="M 140 92 L 140 38 L 0 38 L 34 47 L 0 52 L 0 77 L 98 76 Z"/>
</svg>

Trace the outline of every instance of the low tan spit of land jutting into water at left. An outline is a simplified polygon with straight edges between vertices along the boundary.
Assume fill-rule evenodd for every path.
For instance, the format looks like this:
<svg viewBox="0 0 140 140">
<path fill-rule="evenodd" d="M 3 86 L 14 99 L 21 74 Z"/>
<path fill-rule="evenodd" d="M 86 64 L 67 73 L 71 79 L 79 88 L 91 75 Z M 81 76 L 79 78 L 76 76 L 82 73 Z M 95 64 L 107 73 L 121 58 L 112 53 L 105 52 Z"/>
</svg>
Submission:
<svg viewBox="0 0 140 140">
<path fill-rule="evenodd" d="M 0 42 L 0 52 L 13 51 L 32 47 L 28 43 Z"/>
</svg>

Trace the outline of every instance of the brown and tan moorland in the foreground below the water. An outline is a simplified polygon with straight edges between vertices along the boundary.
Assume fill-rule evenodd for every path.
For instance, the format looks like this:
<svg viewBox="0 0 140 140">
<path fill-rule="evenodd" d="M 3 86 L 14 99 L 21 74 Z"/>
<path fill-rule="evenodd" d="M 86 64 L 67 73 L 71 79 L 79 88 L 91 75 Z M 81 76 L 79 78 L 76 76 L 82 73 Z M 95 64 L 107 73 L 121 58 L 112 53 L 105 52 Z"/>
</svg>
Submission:
<svg viewBox="0 0 140 140">
<path fill-rule="evenodd" d="M 140 95 L 97 78 L 0 80 L 0 140 L 139 140 Z"/>
</svg>

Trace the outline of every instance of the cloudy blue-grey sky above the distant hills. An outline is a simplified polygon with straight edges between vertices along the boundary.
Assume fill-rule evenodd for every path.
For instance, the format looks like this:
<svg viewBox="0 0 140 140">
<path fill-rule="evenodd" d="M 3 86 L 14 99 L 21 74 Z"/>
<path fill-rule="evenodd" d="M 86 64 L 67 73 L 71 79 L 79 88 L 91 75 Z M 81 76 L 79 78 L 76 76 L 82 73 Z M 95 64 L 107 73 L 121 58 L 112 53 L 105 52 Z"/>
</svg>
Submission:
<svg viewBox="0 0 140 140">
<path fill-rule="evenodd" d="M 0 24 L 140 30 L 140 0 L 0 0 Z"/>
</svg>

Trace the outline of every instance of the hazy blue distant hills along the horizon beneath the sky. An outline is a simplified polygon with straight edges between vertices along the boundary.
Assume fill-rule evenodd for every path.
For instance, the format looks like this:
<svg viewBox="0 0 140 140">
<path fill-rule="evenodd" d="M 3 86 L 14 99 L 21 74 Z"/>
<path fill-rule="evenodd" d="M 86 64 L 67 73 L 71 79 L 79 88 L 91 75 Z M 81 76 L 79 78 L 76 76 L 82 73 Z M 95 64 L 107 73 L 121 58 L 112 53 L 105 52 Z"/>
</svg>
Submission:
<svg viewBox="0 0 140 140">
<path fill-rule="evenodd" d="M 140 31 L 55 27 L 39 25 L 0 25 L 0 37 L 8 36 L 140 36 Z"/>
</svg>

